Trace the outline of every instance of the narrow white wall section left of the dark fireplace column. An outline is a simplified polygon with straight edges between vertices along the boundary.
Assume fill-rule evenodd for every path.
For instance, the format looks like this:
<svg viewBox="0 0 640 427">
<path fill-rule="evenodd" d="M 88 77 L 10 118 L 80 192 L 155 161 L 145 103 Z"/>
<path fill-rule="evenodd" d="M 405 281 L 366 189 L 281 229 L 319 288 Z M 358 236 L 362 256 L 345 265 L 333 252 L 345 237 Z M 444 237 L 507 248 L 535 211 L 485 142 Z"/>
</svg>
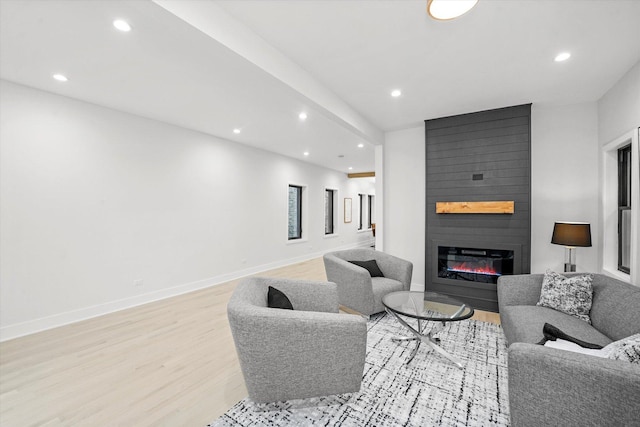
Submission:
<svg viewBox="0 0 640 427">
<path fill-rule="evenodd" d="M 413 263 L 413 290 L 424 289 L 424 125 L 385 134 L 384 251 Z"/>
</svg>

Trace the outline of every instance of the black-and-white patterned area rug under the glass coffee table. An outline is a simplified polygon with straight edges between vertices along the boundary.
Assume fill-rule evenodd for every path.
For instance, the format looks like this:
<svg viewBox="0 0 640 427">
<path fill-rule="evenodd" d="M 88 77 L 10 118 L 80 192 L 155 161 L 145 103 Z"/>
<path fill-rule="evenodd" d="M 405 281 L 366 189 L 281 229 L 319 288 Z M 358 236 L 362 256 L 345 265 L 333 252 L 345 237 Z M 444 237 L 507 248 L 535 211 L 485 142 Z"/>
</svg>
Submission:
<svg viewBox="0 0 640 427">
<path fill-rule="evenodd" d="M 411 324 L 411 323 L 410 323 Z M 234 405 L 210 427 L 225 426 L 508 426 L 507 351 L 498 325 L 446 323 L 441 346 L 464 369 L 415 343 L 396 343 L 405 329 L 380 314 L 368 323 L 367 357 L 358 393 Z"/>
</svg>

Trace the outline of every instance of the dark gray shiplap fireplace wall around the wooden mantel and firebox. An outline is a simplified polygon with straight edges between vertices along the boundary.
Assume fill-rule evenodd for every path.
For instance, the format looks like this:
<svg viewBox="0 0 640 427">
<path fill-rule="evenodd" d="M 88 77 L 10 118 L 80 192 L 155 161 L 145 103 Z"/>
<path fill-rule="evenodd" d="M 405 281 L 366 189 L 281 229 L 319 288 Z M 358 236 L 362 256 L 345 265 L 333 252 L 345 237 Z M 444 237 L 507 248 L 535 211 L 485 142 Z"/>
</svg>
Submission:
<svg viewBox="0 0 640 427">
<path fill-rule="evenodd" d="M 437 277 L 437 246 L 510 249 L 531 269 L 531 104 L 425 121 L 426 290 L 497 311 L 496 285 Z M 437 214 L 436 202 L 513 200 L 513 214 Z"/>
</svg>

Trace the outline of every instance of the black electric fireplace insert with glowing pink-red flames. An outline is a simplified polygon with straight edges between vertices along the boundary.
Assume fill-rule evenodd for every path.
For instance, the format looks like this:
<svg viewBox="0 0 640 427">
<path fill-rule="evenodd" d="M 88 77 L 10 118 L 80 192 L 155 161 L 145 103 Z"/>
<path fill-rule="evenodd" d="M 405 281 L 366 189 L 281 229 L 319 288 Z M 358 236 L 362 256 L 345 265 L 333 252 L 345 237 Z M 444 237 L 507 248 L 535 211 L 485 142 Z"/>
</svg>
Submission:
<svg viewBox="0 0 640 427">
<path fill-rule="evenodd" d="M 438 277 L 464 282 L 498 283 L 513 274 L 514 252 L 506 249 L 438 246 Z"/>
</svg>

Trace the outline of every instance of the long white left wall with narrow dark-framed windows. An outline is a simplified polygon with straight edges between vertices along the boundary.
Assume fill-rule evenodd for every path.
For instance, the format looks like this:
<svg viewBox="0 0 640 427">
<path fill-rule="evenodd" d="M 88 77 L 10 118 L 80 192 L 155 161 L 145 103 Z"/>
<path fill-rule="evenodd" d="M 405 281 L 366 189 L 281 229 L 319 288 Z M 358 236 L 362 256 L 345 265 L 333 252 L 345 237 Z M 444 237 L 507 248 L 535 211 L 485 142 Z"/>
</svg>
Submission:
<svg viewBox="0 0 640 427">
<path fill-rule="evenodd" d="M 370 244 L 344 197 L 369 181 L 9 82 L 0 83 L 0 339 Z M 305 242 L 287 186 L 308 186 Z M 324 236 L 324 189 L 338 235 Z M 142 280 L 142 286 L 134 286 Z"/>
</svg>

